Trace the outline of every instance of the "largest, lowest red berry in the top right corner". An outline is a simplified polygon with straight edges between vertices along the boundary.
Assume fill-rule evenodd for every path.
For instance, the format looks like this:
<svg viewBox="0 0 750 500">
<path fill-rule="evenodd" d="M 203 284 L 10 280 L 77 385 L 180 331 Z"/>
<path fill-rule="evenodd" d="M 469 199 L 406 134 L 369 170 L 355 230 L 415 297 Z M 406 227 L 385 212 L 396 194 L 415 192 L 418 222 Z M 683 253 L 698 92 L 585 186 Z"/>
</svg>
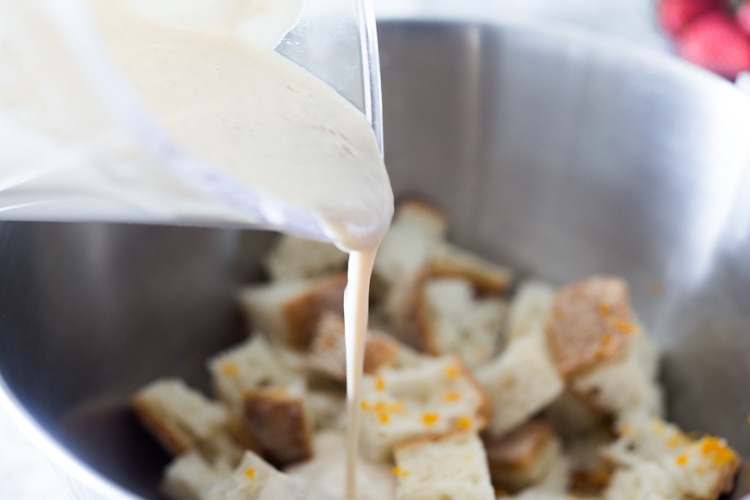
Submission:
<svg viewBox="0 0 750 500">
<path fill-rule="evenodd" d="M 729 16 L 704 14 L 677 36 L 677 53 L 706 69 L 734 79 L 750 70 L 750 39 Z"/>
</svg>

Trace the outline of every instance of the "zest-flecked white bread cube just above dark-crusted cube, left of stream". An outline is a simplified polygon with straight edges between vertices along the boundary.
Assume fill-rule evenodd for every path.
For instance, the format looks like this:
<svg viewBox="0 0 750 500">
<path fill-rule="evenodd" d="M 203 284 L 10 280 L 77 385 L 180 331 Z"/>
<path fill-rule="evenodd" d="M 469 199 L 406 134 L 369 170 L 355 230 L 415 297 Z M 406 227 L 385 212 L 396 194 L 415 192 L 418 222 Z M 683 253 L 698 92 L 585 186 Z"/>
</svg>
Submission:
<svg viewBox="0 0 750 500">
<path fill-rule="evenodd" d="M 208 368 L 217 397 L 237 415 L 242 413 L 245 391 L 284 386 L 301 378 L 258 334 L 211 358 Z"/>
</svg>

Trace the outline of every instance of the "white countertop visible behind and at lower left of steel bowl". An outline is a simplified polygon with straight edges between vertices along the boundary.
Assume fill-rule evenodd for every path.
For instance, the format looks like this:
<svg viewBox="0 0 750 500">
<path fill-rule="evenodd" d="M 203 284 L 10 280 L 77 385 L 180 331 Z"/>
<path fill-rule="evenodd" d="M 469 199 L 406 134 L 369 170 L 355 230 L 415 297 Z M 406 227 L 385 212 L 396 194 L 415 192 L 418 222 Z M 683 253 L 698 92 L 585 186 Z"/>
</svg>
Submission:
<svg viewBox="0 0 750 500">
<path fill-rule="evenodd" d="M 313 1 L 313 0 L 310 0 Z M 374 0 L 381 18 L 429 17 L 570 22 L 640 45 L 663 50 L 655 30 L 652 0 Z M 487 16 L 487 4 L 496 9 Z M 72 498 L 68 482 L 16 423 L 0 410 L 0 498 Z"/>
</svg>

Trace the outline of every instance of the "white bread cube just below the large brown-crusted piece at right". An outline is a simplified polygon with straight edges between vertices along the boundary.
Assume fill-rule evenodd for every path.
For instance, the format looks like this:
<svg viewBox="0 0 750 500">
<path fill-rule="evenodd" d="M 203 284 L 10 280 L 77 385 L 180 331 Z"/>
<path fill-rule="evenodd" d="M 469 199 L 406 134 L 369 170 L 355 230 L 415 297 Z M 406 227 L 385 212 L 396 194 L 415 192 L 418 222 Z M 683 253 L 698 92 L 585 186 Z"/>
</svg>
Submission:
<svg viewBox="0 0 750 500">
<path fill-rule="evenodd" d="M 641 357 L 648 349 L 642 344 L 650 344 L 650 340 L 642 333 L 630 335 L 620 353 L 570 377 L 568 383 L 591 406 L 615 419 L 634 412 L 661 415 L 661 388 L 649 378 Z"/>
</svg>

